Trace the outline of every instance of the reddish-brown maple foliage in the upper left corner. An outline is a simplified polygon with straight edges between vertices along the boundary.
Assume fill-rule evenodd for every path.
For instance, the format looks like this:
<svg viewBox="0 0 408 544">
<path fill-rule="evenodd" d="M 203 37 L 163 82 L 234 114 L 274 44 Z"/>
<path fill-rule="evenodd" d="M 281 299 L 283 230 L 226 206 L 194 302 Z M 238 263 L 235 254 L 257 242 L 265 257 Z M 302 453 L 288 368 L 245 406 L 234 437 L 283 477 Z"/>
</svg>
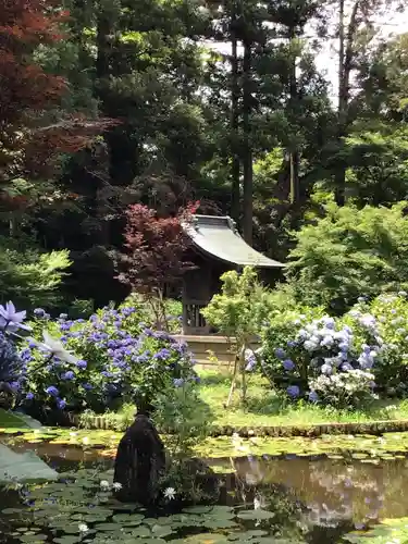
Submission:
<svg viewBox="0 0 408 544">
<path fill-rule="evenodd" d="M 40 44 L 64 38 L 67 16 L 50 0 L 0 0 L 0 187 L 40 177 L 58 153 L 77 151 L 110 123 L 64 115 L 65 79 L 33 59 Z"/>
</svg>

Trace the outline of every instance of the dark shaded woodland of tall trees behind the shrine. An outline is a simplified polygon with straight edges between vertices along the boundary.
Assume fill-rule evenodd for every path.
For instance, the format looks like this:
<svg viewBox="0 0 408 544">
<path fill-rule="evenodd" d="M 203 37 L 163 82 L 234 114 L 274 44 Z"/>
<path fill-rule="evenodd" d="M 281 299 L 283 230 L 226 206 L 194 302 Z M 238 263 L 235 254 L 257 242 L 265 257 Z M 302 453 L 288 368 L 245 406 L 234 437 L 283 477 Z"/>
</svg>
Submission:
<svg viewBox="0 0 408 544">
<path fill-rule="evenodd" d="M 123 299 L 113 256 L 133 203 L 165 217 L 199 200 L 285 261 L 323 205 L 407 199 L 408 34 L 379 33 L 396 10 L 1 0 L 1 298 L 78 312 Z M 316 66 L 332 38 L 334 82 Z"/>
</svg>

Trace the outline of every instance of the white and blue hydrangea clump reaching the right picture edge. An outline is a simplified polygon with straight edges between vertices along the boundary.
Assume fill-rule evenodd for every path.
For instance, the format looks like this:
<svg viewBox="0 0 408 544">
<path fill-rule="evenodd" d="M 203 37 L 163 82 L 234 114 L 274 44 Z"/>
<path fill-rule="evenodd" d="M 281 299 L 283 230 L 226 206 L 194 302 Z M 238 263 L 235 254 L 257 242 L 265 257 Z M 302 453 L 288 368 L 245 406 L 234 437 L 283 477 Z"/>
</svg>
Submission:
<svg viewBox="0 0 408 544">
<path fill-rule="evenodd" d="M 263 372 L 292 398 L 351 406 L 408 394 L 407 293 L 360 297 L 342 318 L 285 312 L 264 332 Z"/>
</svg>

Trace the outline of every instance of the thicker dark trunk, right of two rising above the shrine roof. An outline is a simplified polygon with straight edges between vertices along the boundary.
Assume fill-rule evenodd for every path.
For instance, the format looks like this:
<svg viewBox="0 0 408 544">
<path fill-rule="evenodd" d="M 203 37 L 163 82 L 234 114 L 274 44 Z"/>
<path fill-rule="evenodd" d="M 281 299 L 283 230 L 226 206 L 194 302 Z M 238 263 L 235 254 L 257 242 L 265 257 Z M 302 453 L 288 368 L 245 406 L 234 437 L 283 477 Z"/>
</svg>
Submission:
<svg viewBox="0 0 408 544">
<path fill-rule="evenodd" d="M 251 146 L 251 44 L 244 42 L 244 95 L 243 95 L 243 134 L 244 134 L 244 214 L 243 234 L 244 239 L 252 245 L 252 146 Z"/>
</svg>

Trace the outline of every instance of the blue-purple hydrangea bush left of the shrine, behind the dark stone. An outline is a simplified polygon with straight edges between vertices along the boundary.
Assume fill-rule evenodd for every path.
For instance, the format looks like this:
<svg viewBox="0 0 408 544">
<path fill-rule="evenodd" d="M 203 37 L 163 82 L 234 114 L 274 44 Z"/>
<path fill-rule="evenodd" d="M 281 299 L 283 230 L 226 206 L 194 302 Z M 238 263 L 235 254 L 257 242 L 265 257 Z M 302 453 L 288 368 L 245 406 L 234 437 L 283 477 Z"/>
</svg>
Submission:
<svg viewBox="0 0 408 544">
<path fill-rule="evenodd" d="M 196 380 L 186 344 L 138 321 L 133 307 L 103 309 L 89 320 L 35 311 L 37 337 L 22 351 L 27 364 L 24 404 L 78 411 L 116 408 L 135 397 L 151 401 L 160 391 Z"/>
</svg>

